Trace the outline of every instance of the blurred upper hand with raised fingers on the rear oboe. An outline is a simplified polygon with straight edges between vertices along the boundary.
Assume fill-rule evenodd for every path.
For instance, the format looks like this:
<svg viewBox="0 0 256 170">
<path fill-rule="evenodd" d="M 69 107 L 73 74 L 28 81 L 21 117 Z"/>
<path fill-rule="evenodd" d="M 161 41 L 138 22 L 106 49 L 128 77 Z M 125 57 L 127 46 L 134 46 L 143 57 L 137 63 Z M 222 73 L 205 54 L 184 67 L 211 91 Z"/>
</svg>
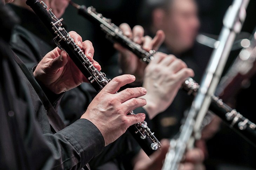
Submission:
<svg viewBox="0 0 256 170">
<path fill-rule="evenodd" d="M 135 43 L 140 44 L 146 51 L 157 51 L 165 38 L 162 30 L 157 31 L 153 39 L 149 36 L 144 36 L 144 29 L 140 25 L 136 25 L 131 29 L 127 23 L 122 23 L 120 29 L 124 35 L 131 38 Z M 134 53 L 122 47 L 120 44 L 115 43 L 114 47 L 119 51 L 119 62 L 123 74 L 133 74 L 136 76 L 136 82 L 142 83 L 144 69 L 147 66 L 146 63 L 139 60 Z"/>
</svg>

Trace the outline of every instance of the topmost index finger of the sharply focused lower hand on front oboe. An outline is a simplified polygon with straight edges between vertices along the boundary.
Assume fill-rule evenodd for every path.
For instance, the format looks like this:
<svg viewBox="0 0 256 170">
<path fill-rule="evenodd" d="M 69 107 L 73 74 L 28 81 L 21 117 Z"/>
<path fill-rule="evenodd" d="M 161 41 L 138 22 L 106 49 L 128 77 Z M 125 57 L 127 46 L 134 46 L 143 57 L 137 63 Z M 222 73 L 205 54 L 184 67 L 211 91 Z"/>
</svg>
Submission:
<svg viewBox="0 0 256 170">
<path fill-rule="evenodd" d="M 134 75 L 124 74 L 112 79 L 102 90 L 115 94 L 122 86 L 135 81 Z"/>
</svg>

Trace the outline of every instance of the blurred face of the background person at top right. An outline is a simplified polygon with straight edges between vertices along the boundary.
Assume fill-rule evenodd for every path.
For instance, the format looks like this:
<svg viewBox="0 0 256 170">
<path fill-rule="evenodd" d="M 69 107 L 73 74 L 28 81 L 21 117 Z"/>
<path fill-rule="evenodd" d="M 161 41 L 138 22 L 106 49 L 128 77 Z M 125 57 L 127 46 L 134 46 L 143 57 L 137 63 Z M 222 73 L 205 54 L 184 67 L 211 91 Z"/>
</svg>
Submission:
<svg viewBox="0 0 256 170">
<path fill-rule="evenodd" d="M 193 46 L 200 23 L 194 0 L 174 0 L 163 17 L 167 44 L 178 52 Z"/>
</svg>

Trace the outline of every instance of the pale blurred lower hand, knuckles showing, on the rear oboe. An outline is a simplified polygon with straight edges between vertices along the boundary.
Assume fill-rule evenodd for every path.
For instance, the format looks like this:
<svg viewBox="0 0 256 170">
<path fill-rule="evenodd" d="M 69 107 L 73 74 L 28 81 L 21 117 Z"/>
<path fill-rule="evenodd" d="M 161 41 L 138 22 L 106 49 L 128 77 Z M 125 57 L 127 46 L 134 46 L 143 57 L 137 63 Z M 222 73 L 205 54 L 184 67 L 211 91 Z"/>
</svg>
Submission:
<svg viewBox="0 0 256 170">
<path fill-rule="evenodd" d="M 192 69 L 173 55 L 157 52 L 145 69 L 143 87 L 147 89 L 147 105 L 143 108 L 150 119 L 166 110 L 173 102 L 187 77 L 193 77 Z"/>
</svg>

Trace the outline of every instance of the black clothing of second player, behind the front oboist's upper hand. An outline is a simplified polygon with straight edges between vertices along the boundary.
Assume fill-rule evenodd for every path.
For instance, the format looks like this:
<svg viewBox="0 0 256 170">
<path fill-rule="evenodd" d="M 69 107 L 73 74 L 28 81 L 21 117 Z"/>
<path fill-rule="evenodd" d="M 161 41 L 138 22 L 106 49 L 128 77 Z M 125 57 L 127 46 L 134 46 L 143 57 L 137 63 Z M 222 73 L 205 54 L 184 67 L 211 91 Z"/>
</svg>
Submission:
<svg viewBox="0 0 256 170">
<path fill-rule="evenodd" d="M 15 5 L 9 6 L 20 16 L 21 20 L 19 26 L 12 31 L 11 48 L 25 65 L 32 69 L 49 51 L 56 47 L 52 43 L 53 36 L 32 11 Z M 42 37 L 44 38 L 42 39 Z M 95 96 L 96 91 L 90 84 L 83 83 L 62 96 L 60 107 L 57 109 L 66 125 L 82 116 L 92 101 L 92 95 Z"/>
</svg>

